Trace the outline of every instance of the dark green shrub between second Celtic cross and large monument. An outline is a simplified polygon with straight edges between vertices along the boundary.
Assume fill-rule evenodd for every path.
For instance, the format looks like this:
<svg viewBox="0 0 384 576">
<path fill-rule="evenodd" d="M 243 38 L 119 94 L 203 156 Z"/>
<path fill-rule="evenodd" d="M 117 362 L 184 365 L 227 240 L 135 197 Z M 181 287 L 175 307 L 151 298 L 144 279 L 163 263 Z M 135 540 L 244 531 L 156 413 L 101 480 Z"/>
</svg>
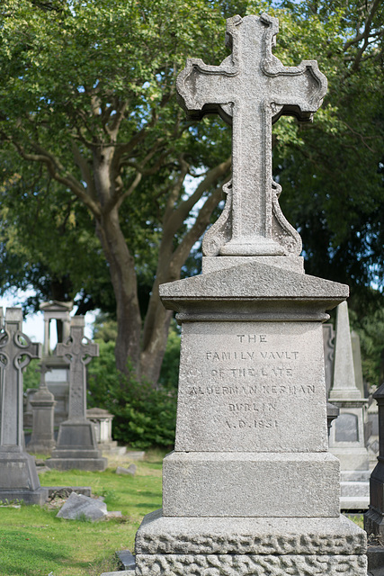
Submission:
<svg viewBox="0 0 384 576">
<path fill-rule="evenodd" d="M 114 343 L 100 342 L 100 356 L 88 368 L 88 407 L 109 410 L 115 440 L 133 448 L 174 445 L 176 391 L 153 388 L 118 372 Z M 130 373 L 132 374 L 132 373 Z"/>
</svg>

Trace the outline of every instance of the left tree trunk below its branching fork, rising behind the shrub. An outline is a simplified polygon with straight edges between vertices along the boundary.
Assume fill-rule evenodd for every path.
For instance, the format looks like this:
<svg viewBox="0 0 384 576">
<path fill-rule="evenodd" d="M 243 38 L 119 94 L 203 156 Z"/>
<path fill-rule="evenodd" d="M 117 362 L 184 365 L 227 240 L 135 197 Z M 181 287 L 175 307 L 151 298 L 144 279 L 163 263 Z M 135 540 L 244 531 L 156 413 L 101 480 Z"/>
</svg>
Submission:
<svg viewBox="0 0 384 576">
<path fill-rule="evenodd" d="M 138 307 L 137 278 L 134 259 L 121 231 L 119 211 L 116 207 L 97 220 L 97 236 L 100 238 L 107 259 L 113 292 L 116 298 L 118 335 L 115 356 L 118 370 L 129 374 L 131 369 L 140 378 L 141 318 Z"/>
</svg>

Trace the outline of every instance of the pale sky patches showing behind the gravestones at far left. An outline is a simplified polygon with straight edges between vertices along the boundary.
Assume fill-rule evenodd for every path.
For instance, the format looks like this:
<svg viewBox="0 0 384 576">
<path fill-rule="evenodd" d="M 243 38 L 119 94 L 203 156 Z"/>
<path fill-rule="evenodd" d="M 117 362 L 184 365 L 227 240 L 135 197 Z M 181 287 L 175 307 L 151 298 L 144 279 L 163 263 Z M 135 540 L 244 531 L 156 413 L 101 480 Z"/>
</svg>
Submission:
<svg viewBox="0 0 384 576">
<path fill-rule="evenodd" d="M 0 296 L 0 307 L 3 307 L 4 313 L 5 308 L 11 308 L 13 306 L 21 306 L 22 302 L 28 298 L 29 293 L 23 293 L 19 291 L 16 294 L 5 294 Z M 71 312 L 71 316 L 74 315 L 75 311 Z M 94 312 L 87 312 L 85 314 L 85 336 L 87 338 L 92 338 L 93 327 L 96 314 Z M 40 342 L 42 344 L 44 338 L 44 320 L 43 313 L 37 312 L 36 314 L 28 314 L 28 316 L 22 322 L 22 332 L 31 338 L 32 342 Z M 52 333 L 55 330 L 51 330 Z M 53 335 L 52 335 L 52 338 Z M 51 340 L 51 345 L 56 346 L 56 342 Z"/>
</svg>

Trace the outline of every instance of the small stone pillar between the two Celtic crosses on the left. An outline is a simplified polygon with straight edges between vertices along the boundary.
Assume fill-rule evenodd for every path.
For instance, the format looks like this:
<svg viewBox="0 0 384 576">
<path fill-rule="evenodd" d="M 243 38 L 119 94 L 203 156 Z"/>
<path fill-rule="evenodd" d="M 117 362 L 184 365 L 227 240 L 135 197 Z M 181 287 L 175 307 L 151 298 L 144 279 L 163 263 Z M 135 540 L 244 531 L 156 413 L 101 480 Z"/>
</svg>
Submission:
<svg viewBox="0 0 384 576">
<path fill-rule="evenodd" d="M 46 365 L 40 365 L 40 388 L 31 400 L 32 434 L 27 445 L 27 451 L 34 454 L 50 455 L 55 447 L 53 412 L 55 399 L 45 383 L 45 375 L 49 371 Z"/>
</svg>

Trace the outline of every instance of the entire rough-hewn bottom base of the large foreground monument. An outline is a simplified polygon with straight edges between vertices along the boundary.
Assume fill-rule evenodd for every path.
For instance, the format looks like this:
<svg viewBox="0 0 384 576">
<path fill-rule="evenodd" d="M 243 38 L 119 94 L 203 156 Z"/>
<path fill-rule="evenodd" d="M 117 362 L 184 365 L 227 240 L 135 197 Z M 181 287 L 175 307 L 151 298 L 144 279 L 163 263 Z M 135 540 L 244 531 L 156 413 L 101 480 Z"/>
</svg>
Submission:
<svg viewBox="0 0 384 576">
<path fill-rule="evenodd" d="M 172 518 L 156 510 L 138 528 L 136 576 L 366 576 L 366 550 L 365 532 L 343 516 Z"/>
</svg>

